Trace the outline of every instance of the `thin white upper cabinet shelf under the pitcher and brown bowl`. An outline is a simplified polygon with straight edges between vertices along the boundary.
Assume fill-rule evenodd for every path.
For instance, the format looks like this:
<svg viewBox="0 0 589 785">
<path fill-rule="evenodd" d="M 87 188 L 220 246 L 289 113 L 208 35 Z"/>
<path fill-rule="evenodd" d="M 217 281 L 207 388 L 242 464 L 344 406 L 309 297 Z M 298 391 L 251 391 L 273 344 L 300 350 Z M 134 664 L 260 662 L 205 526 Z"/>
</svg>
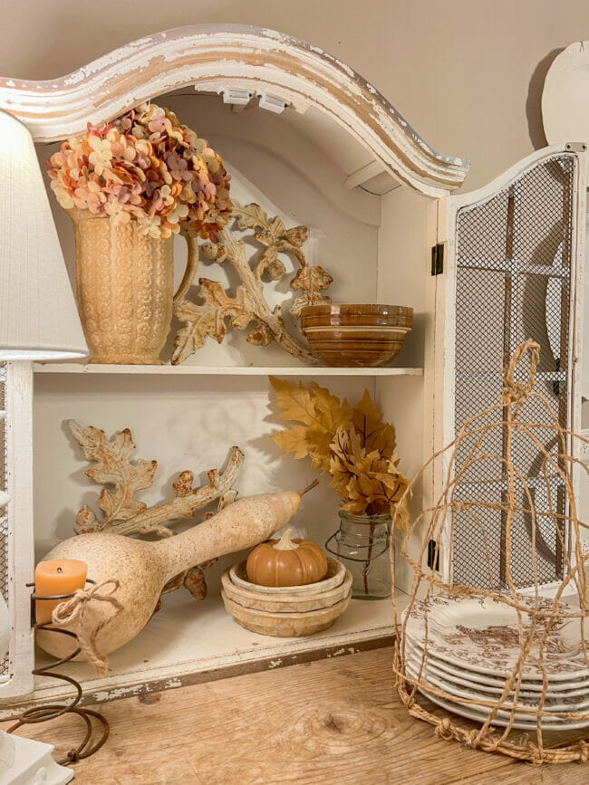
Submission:
<svg viewBox="0 0 589 785">
<path fill-rule="evenodd" d="M 35 363 L 35 373 L 151 374 L 169 376 L 422 376 L 422 368 L 326 368 L 324 366 L 84 365 Z"/>
</svg>

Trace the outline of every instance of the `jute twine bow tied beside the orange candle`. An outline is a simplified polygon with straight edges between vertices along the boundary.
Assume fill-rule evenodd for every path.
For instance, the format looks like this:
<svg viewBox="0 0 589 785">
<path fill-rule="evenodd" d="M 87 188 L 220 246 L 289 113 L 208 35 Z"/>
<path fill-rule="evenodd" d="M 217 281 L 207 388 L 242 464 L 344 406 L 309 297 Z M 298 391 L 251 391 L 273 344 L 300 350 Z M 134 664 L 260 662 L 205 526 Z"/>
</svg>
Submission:
<svg viewBox="0 0 589 785">
<path fill-rule="evenodd" d="M 53 608 L 52 622 L 56 627 L 75 627 L 75 634 L 82 655 L 93 665 L 96 675 L 105 676 L 108 672 L 108 658 L 101 654 L 96 646 L 96 638 L 99 633 L 112 619 L 121 613 L 122 603 L 113 597 L 115 591 L 119 589 L 121 582 L 117 579 L 102 580 L 92 586 L 91 589 L 76 589 L 70 599 L 65 599 L 58 606 Z M 110 591 L 103 591 L 105 587 L 111 586 Z M 102 619 L 95 627 L 91 624 L 84 624 L 88 603 L 91 600 L 98 602 L 108 602 L 114 608 L 114 613 Z"/>
</svg>

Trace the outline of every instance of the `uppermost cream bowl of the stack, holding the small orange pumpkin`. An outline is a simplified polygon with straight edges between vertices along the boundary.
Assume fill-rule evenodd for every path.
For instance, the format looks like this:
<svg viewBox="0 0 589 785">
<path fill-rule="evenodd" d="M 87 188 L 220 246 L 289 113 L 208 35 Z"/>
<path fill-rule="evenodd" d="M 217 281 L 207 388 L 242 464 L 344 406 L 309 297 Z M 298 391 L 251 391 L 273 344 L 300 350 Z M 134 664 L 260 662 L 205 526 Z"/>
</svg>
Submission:
<svg viewBox="0 0 589 785">
<path fill-rule="evenodd" d="M 350 589 L 352 588 L 352 573 L 350 570 L 346 570 L 343 583 L 334 589 L 317 591 L 316 594 L 285 594 L 282 592 L 258 594 L 256 591 L 242 589 L 232 583 L 229 571 L 225 570 L 221 576 L 221 586 L 225 598 L 233 600 L 237 605 L 242 605 L 244 608 L 267 610 L 273 613 L 304 613 L 307 610 L 331 608 L 345 599 L 350 594 Z M 310 585 L 316 586 L 317 584 Z"/>
</svg>

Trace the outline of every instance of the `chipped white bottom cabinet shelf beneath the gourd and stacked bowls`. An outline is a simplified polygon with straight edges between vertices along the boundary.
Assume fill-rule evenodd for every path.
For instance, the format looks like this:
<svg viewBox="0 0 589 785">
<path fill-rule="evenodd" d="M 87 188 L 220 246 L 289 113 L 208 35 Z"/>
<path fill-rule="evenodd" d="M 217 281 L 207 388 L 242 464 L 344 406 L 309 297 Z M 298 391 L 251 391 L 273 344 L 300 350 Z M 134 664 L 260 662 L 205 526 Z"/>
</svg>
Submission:
<svg viewBox="0 0 589 785">
<path fill-rule="evenodd" d="M 402 610 L 409 597 L 396 590 L 395 600 Z M 387 599 L 368 603 L 352 599 L 333 627 L 294 638 L 257 635 L 239 627 L 218 595 L 196 602 L 187 592 L 177 591 L 164 598 L 164 605 L 137 637 L 109 657 L 108 679 L 97 678 L 82 662 L 60 669 L 82 684 L 85 704 L 389 646 L 394 635 Z M 37 649 L 36 665 L 50 663 L 53 658 Z M 71 694 L 69 684 L 38 676 L 34 700 L 12 703 L 19 703 L 20 712 L 35 704 L 63 701 Z M 0 719 L 14 713 L 11 704 L 5 704 Z"/>
</svg>

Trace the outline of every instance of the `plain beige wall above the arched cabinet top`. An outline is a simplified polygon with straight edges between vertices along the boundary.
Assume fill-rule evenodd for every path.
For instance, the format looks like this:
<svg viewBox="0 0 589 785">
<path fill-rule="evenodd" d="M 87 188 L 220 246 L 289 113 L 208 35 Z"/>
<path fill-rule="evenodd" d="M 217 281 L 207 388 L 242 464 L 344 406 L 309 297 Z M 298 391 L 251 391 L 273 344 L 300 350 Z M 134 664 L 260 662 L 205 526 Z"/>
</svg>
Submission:
<svg viewBox="0 0 589 785">
<path fill-rule="evenodd" d="M 540 92 L 558 50 L 589 38 L 587 0 L 0 0 L 0 72 L 51 79 L 183 24 L 299 36 L 372 81 L 472 189 L 545 144 Z"/>
</svg>

